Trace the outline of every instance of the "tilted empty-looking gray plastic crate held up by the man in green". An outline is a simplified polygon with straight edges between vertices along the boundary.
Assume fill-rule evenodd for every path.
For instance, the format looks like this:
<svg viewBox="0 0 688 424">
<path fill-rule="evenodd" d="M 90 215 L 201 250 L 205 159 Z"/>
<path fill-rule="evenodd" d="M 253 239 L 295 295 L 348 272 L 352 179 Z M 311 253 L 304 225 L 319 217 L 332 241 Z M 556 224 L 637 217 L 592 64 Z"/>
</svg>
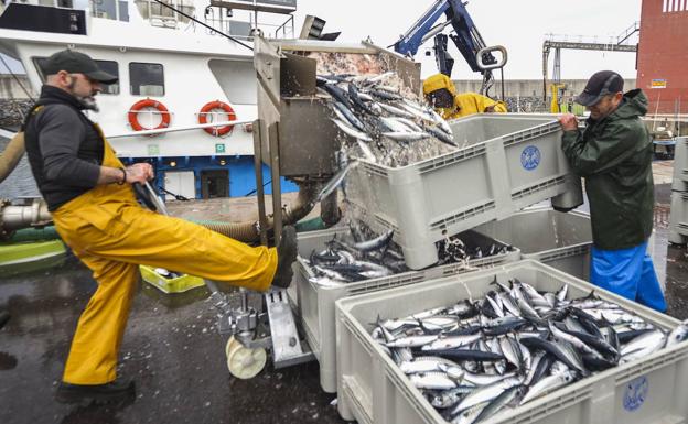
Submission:
<svg viewBox="0 0 688 424">
<path fill-rule="evenodd" d="M 462 146 L 404 167 L 362 161 L 347 177 L 347 198 L 376 232 L 395 230 L 406 264 L 437 262 L 434 242 L 552 198 L 582 204 L 569 174 L 555 116 L 481 113 L 450 122 Z"/>
</svg>

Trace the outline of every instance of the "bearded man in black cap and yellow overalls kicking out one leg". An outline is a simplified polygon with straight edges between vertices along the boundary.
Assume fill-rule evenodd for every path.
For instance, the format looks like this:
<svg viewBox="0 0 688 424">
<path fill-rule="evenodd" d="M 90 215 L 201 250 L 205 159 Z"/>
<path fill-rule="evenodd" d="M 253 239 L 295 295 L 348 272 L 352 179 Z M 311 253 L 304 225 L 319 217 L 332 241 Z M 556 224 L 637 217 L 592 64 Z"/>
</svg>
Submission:
<svg viewBox="0 0 688 424">
<path fill-rule="evenodd" d="M 57 232 L 98 282 L 79 318 L 56 399 L 130 398 L 133 382 L 118 380 L 116 368 L 139 264 L 256 291 L 287 287 L 295 232 L 287 227 L 277 249 L 251 248 L 140 207 L 131 184 L 151 180 L 152 166 L 125 167 L 98 126 L 82 112 L 97 110 L 94 96 L 100 84 L 117 78 L 73 51 L 55 53 L 43 70 L 46 84 L 24 122 L 29 162 Z"/>
</svg>

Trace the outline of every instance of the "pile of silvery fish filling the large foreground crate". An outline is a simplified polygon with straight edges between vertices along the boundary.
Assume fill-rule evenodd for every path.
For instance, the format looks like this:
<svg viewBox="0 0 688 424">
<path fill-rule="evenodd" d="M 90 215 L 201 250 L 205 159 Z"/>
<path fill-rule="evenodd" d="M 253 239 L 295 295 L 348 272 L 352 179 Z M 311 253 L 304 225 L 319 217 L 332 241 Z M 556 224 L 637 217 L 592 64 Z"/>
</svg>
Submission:
<svg viewBox="0 0 688 424">
<path fill-rule="evenodd" d="M 594 292 L 567 300 L 512 280 L 479 301 L 378 322 L 377 340 L 451 423 L 469 424 L 526 404 L 593 372 L 644 358 L 688 337 Z"/>
</svg>

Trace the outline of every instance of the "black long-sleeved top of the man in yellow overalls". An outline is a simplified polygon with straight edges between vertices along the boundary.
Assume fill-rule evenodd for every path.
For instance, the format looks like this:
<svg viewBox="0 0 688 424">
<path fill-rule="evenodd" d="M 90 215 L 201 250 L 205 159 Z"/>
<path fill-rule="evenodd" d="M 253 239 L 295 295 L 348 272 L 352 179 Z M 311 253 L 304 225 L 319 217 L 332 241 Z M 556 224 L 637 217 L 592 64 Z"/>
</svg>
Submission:
<svg viewBox="0 0 688 424">
<path fill-rule="evenodd" d="M 36 106 L 24 122 L 26 154 L 52 211 L 96 186 L 104 141 L 68 93 L 43 86 Z"/>
</svg>

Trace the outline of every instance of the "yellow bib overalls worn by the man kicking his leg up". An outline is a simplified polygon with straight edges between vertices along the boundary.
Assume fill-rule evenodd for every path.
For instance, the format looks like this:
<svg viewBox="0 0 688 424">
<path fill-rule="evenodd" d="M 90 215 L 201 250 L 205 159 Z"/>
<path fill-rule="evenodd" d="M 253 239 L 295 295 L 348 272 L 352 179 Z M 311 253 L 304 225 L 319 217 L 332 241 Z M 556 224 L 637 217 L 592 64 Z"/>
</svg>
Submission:
<svg viewBox="0 0 688 424">
<path fill-rule="evenodd" d="M 103 141 L 103 165 L 123 167 L 105 138 Z M 62 239 L 98 282 L 72 341 L 63 376 L 67 383 L 103 384 L 116 379 L 139 264 L 257 291 L 268 290 L 277 271 L 275 248 L 251 248 L 144 209 L 129 184 L 98 185 L 53 211 L 53 220 Z"/>
</svg>

